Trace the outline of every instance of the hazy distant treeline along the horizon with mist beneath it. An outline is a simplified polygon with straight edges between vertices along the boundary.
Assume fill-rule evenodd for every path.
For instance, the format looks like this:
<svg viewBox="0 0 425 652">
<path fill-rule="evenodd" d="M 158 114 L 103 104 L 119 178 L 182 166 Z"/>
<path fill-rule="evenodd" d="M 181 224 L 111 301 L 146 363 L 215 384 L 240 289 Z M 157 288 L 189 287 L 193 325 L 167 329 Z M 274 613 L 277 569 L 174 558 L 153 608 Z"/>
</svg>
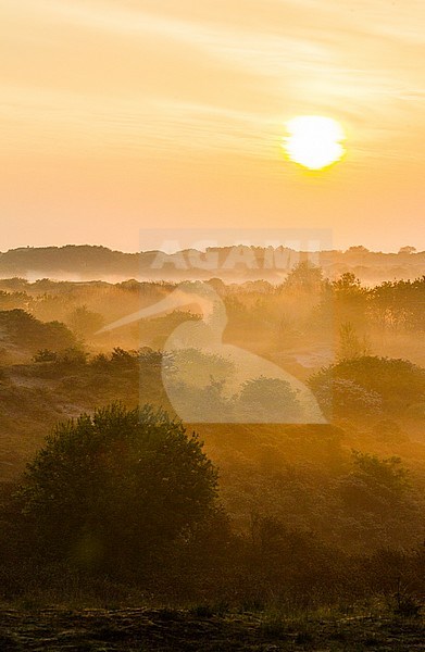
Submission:
<svg viewBox="0 0 425 652">
<path fill-rule="evenodd" d="M 105 247 L 73 246 L 11 249 L 0 253 L 0 277 L 22 276 L 32 280 L 58 279 L 266 279 L 279 283 L 299 262 L 310 260 L 332 278 L 345 272 L 362 281 L 413 279 L 423 274 L 425 252 L 402 247 L 398 253 L 350 247 L 347 251 L 299 252 L 289 248 L 221 247 L 207 252 L 188 249 L 174 254 L 159 251 L 125 253 Z"/>
</svg>

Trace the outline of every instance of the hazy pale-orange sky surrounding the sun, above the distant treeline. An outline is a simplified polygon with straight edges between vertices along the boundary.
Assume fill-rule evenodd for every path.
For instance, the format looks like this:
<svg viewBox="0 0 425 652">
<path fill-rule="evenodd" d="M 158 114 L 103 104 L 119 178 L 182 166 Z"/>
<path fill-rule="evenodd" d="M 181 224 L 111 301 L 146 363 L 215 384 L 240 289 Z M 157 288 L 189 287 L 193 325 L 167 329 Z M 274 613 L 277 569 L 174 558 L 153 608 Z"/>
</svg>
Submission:
<svg viewBox="0 0 425 652">
<path fill-rule="evenodd" d="M 0 250 L 155 227 L 425 249 L 424 0 L 0 0 Z M 341 122 L 312 175 L 280 142 Z"/>
</svg>

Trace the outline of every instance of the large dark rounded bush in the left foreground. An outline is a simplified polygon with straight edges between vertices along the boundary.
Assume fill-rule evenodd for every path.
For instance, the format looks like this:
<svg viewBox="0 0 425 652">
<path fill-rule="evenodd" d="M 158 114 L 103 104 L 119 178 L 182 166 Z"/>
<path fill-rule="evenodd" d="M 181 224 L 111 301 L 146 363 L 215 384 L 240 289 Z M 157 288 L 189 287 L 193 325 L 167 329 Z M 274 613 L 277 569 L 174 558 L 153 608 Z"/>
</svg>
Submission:
<svg viewBox="0 0 425 652">
<path fill-rule="evenodd" d="M 135 573 L 190 538 L 213 509 L 216 480 L 180 422 L 150 405 L 114 403 L 57 426 L 20 493 L 53 559 Z"/>
</svg>

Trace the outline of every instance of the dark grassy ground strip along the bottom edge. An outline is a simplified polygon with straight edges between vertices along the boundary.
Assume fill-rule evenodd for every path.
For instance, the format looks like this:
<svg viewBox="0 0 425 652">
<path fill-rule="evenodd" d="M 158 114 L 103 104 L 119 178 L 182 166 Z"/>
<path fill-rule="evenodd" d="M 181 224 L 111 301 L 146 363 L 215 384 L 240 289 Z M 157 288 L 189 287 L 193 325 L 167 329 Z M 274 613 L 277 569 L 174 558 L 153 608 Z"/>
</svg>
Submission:
<svg viewBox="0 0 425 652">
<path fill-rule="evenodd" d="M 204 612 L 204 613 L 202 613 Z M 0 611 L 0 650 L 425 650 L 422 618 L 282 618 L 208 610 Z"/>
</svg>

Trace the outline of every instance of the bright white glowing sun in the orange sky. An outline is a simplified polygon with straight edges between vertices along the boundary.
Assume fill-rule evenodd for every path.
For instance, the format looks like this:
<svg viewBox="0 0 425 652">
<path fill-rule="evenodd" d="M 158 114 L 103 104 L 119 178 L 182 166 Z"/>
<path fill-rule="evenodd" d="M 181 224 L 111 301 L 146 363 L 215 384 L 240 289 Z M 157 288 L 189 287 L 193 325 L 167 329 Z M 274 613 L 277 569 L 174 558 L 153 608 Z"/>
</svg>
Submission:
<svg viewBox="0 0 425 652">
<path fill-rule="evenodd" d="M 332 117 L 299 115 L 287 125 L 284 138 L 287 156 L 309 170 L 322 170 L 339 161 L 346 150 L 341 145 L 346 136 L 341 125 Z"/>
</svg>

